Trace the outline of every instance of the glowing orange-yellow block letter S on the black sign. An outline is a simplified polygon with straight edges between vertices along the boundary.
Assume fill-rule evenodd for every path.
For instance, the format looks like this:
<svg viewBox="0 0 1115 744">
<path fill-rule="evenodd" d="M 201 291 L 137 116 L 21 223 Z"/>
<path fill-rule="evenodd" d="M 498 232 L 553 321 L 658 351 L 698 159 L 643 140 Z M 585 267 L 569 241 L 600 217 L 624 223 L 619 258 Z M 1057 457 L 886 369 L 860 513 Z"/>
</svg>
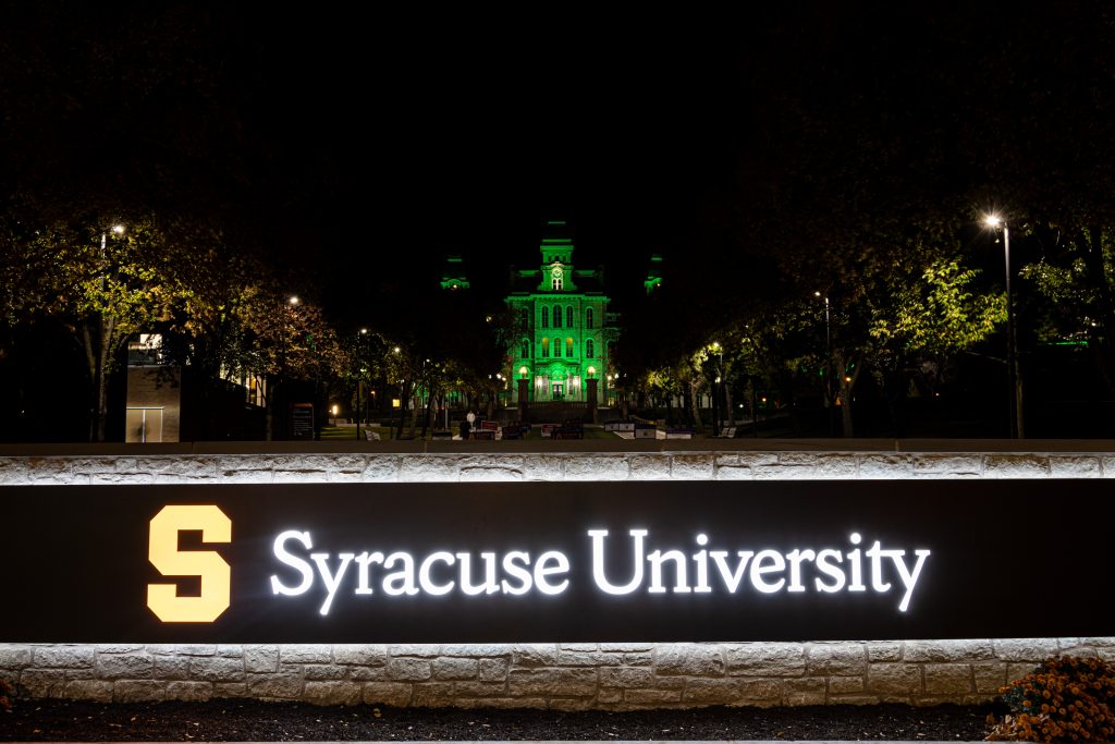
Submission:
<svg viewBox="0 0 1115 744">
<path fill-rule="evenodd" d="M 232 542 L 232 520 L 213 505 L 164 506 L 151 521 L 152 564 L 163 576 L 201 577 L 198 597 L 180 597 L 173 583 L 148 583 L 147 607 L 163 622 L 213 622 L 229 609 L 232 567 L 213 550 L 178 550 L 178 533 L 201 530 L 202 542 Z"/>
</svg>

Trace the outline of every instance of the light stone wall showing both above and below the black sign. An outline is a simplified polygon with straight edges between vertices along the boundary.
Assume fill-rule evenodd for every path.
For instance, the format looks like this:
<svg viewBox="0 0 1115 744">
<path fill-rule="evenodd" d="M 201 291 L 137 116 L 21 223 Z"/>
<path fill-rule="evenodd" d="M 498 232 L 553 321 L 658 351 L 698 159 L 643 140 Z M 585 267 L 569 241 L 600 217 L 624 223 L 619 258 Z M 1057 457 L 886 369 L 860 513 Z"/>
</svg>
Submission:
<svg viewBox="0 0 1115 744">
<path fill-rule="evenodd" d="M 1017 444 L 1017 443 L 1015 443 Z M 248 454 L 182 445 L 0 452 L 0 485 L 1115 476 L 1095 446 L 1030 452 L 753 450 Z M 270 445 L 269 445 L 270 446 Z M 304 446 L 304 445 L 303 445 Z M 680 445 L 685 446 L 685 445 Z M 719 446 L 719 445 L 718 445 Z M 799 447 L 801 445 L 798 445 Z M 608 450 L 609 447 L 601 447 Z M 614 448 L 614 447 L 612 447 Z M 990 448 L 990 447 L 988 447 Z M 472 450 L 472 451 L 467 451 Z M 0 489 L 0 499 L 3 497 Z M 2 621 L 0 621 L 2 628 Z M 0 641 L 3 641 L 0 637 Z M 259 697 L 321 704 L 631 709 L 969 703 L 1058 653 L 1115 660 L 1115 637 L 801 644 L 183 646 L 0 644 L 0 678 L 33 697 Z"/>
</svg>

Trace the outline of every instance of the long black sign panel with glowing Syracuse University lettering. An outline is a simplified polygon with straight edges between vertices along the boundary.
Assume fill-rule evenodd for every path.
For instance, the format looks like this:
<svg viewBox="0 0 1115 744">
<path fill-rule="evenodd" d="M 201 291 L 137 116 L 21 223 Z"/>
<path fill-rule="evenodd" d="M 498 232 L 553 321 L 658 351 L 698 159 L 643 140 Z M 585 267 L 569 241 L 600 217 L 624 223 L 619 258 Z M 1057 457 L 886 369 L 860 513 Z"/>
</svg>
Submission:
<svg viewBox="0 0 1115 744">
<path fill-rule="evenodd" d="M 8 487 L 0 640 L 1105 635 L 1108 489 L 1102 481 Z"/>
</svg>

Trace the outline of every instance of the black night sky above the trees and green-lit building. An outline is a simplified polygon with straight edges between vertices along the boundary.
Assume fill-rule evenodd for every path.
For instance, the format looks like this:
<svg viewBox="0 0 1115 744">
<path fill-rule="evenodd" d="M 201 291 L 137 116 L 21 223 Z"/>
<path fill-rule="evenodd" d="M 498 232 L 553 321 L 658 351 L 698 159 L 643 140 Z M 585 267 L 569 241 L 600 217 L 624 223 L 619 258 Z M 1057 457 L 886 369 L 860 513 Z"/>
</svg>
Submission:
<svg viewBox="0 0 1115 744">
<path fill-rule="evenodd" d="M 733 251 L 779 250 L 750 228 L 775 189 L 841 177 L 840 164 L 795 171 L 802 152 L 805 167 L 827 167 L 827 152 L 885 151 L 894 132 L 898 164 L 880 170 L 937 205 L 970 194 L 995 168 L 950 160 L 948 143 L 970 153 L 986 136 L 972 123 L 1005 116 L 1018 83 L 996 89 L 1002 68 L 983 61 L 1017 52 L 1019 76 L 1053 70 L 1057 89 L 1065 46 L 1106 18 L 1095 3 L 1048 6 L 656 16 L 8 3 L 6 191 L 104 189 L 220 212 L 278 267 L 316 278 L 345 322 L 436 281 L 446 253 L 464 254 L 477 291 L 498 298 L 510 264 L 534 264 L 541 222 L 566 219 L 578 264 L 605 264 L 622 306 L 650 253 L 716 273 Z M 1102 38 L 1085 46 L 1109 55 Z M 870 132 L 857 145 L 859 122 Z M 824 228 L 783 220 L 774 234 L 812 241 Z"/>
</svg>

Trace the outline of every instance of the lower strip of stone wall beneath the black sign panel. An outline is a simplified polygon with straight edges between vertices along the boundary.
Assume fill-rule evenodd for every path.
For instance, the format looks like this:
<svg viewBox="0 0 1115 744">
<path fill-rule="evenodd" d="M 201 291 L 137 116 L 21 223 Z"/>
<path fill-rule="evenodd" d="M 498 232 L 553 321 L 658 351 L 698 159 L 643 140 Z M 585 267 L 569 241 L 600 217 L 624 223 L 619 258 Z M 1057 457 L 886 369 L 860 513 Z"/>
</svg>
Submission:
<svg viewBox="0 0 1115 744">
<path fill-rule="evenodd" d="M 487 646 L 0 645 L 33 697 L 258 697 L 320 704 L 632 709 L 993 697 L 1057 653 L 1115 660 L 1115 638 Z"/>
</svg>

